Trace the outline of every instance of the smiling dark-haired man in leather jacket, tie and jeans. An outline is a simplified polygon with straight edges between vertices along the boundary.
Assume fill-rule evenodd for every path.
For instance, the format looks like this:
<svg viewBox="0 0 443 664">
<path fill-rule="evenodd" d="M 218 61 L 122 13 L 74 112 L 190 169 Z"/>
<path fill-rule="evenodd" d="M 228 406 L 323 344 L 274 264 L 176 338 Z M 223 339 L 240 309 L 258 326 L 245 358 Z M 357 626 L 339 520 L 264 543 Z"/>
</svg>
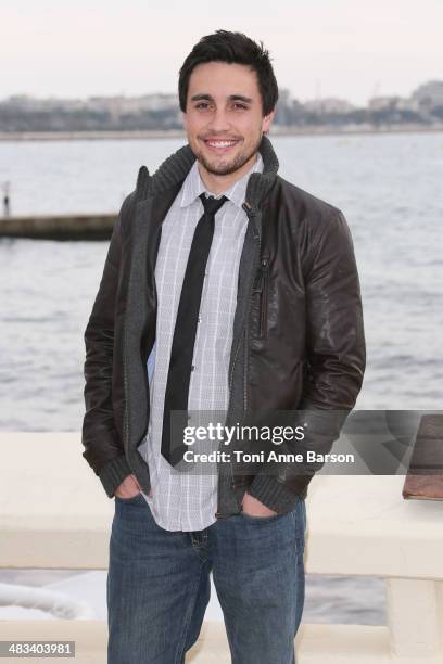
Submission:
<svg viewBox="0 0 443 664">
<path fill-rule="evenodd" d="M 140 169 L 114 228 L 85 333 L 83 430 L 84 457 L 115 496 L 110 664 L 185 662 L 211 571 L 232 662 L 295 662 L 318 465 L 231 456 L 186 472 L 172 424 L 178 413 L 182 432 L 183 411 L 225 411 L 231 426 L 291 411 L 313 434 L 318 413 L 349 412 L 360 390 L 351 235 L 338 208 L 277 175 L 265 136 L 277 98 L 263 46 L 203 37 L 179 76 L 188 144 L 152 177 Z M 309 445 L 327 451 L 336 437 L 331 426 Z"/>
</svg>

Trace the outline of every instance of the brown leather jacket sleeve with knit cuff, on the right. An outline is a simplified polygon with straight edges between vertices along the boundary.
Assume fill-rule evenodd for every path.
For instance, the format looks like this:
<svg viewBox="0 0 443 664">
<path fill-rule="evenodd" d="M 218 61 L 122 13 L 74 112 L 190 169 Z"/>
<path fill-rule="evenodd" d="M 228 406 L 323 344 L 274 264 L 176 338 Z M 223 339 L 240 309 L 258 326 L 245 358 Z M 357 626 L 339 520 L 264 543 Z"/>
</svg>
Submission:
<svg viewBox="0 0 443 664">
<path fill-rule="evenodd" d="M 362 387 L 366 365 L 365 334 L 357 267 L 351 232 L 334 209 L 307 238 L 304 256 L 308 379 L 294 426 L 304 440 L 286 442 L 280 452 L 307 449 L 328 454 Z M 265 464 L 266 465 L 266 464 Z M 322 463 L 279 463 L 263 469 L 248 491 L 277 512 L 287 511 Z M 292 499 L 291 499 L 292 497 Z"/>
</svg>

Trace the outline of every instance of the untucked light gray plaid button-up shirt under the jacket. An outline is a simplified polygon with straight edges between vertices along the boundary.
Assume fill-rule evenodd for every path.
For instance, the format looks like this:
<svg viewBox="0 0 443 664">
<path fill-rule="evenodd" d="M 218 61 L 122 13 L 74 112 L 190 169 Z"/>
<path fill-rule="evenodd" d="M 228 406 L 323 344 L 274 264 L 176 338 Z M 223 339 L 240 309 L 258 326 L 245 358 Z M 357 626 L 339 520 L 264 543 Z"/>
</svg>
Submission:
<svg viewBox="0 0 443 664">
<path fill-rule="evenodd" d="M 215 215 L 194 344 L 194 369 L 189 384 L 189 411 L 223 412 L 228 408 L 237 281 L 248 227 L 241 205 L 249 176 L 254 171 L 263 171 L 260 153 L 249 173 L 224 192 L 228 201 Z M 148 360 L 151 417 L 139 451 L 149 465 L 153 494 L 152 497 L 143 496 L 155 522 L 167 531 L 201 531 L 216 521 L 216 467 L 211 471 L 207 468 L 202 472 L 179 473 L 161 455 L 163 405 L 174 328 L 193 232 L 203 214 L 199 199 L 203 192 L 211 193 L 203 184 L 195 161 L 163 221 L 155 266 L 156 341 Z M 213 445 L 216 449 L 218 442 Z M 192 448 L 195 449 L 195 445 Z"/>
</svg>

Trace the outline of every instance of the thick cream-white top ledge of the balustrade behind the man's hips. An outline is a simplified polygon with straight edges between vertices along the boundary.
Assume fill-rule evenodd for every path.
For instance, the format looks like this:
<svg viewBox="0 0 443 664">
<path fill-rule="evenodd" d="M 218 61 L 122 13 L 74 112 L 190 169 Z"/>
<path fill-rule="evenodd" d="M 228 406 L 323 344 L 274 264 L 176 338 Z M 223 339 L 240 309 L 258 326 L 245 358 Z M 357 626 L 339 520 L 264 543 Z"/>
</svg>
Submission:
<svg viewBox="0 0 443 664">
<path fill-rule="evenodd" d="M 80 435 L 1 433 L 0 444 L 0 567 L 107 569 L 114 500 L 81 457 Z M 404 500 L 403 482 L 314 477 L 307 572 L 442 580 L 443 505 Z"/>
</svg>

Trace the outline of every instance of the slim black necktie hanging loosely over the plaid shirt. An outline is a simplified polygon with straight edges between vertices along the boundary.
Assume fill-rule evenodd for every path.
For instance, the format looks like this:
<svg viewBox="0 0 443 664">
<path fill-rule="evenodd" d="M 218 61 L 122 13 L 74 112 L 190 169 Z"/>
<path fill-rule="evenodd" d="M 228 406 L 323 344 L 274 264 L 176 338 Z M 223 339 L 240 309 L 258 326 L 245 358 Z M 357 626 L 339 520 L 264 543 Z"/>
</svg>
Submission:
<svg viewBox="0 0 443 664">
<path fill-rule="evenodd" d="M 192 358 L 200 302 L 207 256 L 214 235 L 215 213 L 227 201 L 226 196 L 214 199 L 213 196 L 206 197 L 204 194 L 201 194 L 200 199 L 203 203 L 204 214 L 195 227 L 186 267 L 164 401 L 162 455 L 172 465 L 177 465 L 182 459 L 185 450 L 188 449 L 183 445 L 183 427 L 188 424 L 189 382 L 193 370 Z M 172 431 L 170 413 L 174 410 L 181 412 L 174 416 Z M 174 435 L 172 436 L 172 434 Z"/>
</svg>

